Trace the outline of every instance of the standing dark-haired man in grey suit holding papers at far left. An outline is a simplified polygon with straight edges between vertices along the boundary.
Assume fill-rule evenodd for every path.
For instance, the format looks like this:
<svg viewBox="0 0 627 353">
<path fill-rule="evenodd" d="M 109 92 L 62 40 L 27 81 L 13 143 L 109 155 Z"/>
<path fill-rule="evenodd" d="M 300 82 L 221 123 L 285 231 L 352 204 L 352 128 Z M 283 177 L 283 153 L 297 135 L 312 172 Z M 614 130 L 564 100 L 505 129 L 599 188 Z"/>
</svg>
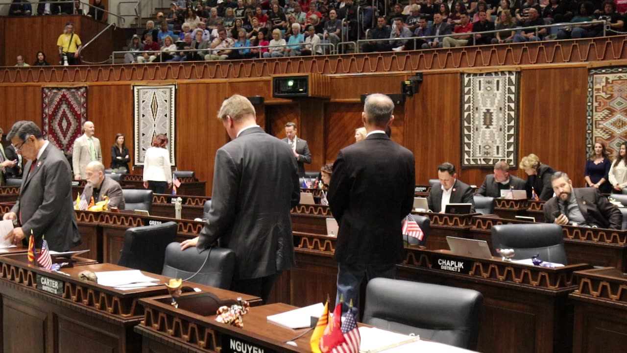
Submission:
<svg viewBox="0 0 627 353">
<path fill-rule="evenodd" d="M 41 134 L 32 121 L 18 121 L 6 138 L 28 162 L 18 202 L 3 219 L 17 220 L 16 227 L 5 237 L 14 244 L 31 232 L 35 246 L 46 236 L 50 250 L 68 251 L 80 245 L 81 239 L 72 207 L 70 163 L 58 148 Z"/>
</svg>

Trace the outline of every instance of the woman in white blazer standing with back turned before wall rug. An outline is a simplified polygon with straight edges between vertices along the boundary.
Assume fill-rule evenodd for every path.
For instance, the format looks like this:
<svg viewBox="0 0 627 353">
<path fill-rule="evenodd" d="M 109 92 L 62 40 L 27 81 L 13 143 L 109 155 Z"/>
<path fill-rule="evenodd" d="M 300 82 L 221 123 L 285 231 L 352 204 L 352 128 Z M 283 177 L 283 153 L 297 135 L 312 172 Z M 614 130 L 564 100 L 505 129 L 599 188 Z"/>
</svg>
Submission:
<svg viewBox="0 0 627 353">
<path fill-rule="evenodd" d="M 166 193 L 172 186 L 172 168 L 166 146 L 166 135 L 158 134 L 144 156 L 144 187 L 153 193 Z"/>
</svg>

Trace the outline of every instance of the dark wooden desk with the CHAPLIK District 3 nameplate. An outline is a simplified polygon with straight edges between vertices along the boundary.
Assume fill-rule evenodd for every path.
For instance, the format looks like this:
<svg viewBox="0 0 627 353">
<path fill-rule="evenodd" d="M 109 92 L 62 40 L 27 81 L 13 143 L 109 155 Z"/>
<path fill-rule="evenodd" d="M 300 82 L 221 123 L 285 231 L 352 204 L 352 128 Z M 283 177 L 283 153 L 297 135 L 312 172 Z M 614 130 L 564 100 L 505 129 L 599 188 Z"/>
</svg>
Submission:
<svg viewBox="0 0 627 353">
<path fill-rule="evenodd" d="M 571 352 L 574 273 L 591 268 L 527 266 L 500 258 L 478 259 L 447 250 L 406 247 L 396 277 L 470 288 L 483 294 L 477 350 L 504 352 Z"/>
</svg>

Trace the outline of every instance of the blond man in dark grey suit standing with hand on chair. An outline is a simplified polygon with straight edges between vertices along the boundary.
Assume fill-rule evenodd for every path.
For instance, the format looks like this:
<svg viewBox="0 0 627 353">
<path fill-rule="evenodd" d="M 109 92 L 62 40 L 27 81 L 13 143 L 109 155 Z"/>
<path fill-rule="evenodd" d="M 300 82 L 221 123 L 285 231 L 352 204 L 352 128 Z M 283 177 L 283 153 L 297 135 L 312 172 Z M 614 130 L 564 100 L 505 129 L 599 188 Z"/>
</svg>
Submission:
<svg viewBox="0 0 627 353">
<path fill-rule="evenodd" d="M 231 290 L 265 303 L 282 271 L 295 265 L 290 210 L 300 201 L 296 159 L 288 144 L 256 125 L 246 97 L 224 100 L 218 117 L 232 141 L 216 153 L 207 222 L 181 247 L 203 251 L 220 239 L 235 252 Z"/>
</svg>

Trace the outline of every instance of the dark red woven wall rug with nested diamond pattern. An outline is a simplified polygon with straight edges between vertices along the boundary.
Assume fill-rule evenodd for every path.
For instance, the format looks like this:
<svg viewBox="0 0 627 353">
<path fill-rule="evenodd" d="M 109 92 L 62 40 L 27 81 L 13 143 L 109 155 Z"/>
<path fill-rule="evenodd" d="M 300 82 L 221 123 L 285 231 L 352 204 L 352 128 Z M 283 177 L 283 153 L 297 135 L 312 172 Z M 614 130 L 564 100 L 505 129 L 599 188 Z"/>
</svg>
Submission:
<svg viewBox="0 0 627 353">
<path fill-rule="evenodd" d="M 41 105 L 43 138 L 71 153 L 87 121 L 87 87 L 44 87 Z"/>
</svg>

